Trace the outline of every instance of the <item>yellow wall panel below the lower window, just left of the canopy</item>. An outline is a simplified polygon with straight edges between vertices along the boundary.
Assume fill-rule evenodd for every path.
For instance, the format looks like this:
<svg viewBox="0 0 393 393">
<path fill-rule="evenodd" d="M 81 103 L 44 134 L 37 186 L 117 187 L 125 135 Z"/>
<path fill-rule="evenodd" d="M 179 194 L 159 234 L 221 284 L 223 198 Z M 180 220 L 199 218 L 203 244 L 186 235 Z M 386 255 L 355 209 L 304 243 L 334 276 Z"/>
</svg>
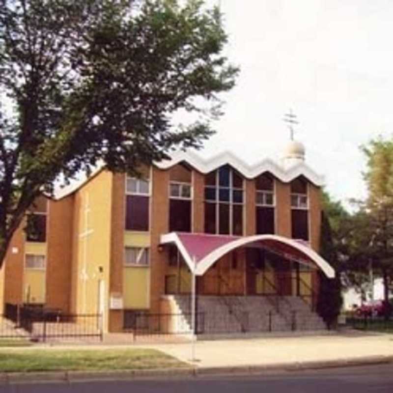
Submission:
<svg viewBox="0 0 393 393">
<path fill-rule="evenodd" d="M 150 308 L 150 268 L 125 267 L 123 274 L 125 309 Z"/>
</svg>

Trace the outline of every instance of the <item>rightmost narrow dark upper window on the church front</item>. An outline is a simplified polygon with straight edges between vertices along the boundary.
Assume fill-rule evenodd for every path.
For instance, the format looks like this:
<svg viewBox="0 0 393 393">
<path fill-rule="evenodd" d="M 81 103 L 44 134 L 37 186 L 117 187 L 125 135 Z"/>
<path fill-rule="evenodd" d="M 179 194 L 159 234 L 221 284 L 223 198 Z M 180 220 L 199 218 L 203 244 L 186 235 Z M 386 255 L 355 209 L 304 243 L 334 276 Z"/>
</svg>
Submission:
<svg viewBox="0 0 393 393">
<path fill-rule="evenodd" d="M 293 239 L 309 240 L 309 200 L 304 177 L 291 182 L 291 226 Z"/>
</svg>

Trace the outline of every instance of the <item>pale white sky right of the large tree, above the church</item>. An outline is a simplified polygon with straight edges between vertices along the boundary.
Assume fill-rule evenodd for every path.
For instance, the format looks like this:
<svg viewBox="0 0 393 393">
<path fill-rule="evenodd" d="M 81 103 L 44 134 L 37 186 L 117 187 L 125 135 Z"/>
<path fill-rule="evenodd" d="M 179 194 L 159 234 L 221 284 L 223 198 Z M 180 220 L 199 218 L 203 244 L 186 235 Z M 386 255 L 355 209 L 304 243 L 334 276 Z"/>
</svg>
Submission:
<svg viewBox="0 0 393 393">
<path fill-rule="evenodd" d="M 365 197 L 359 146 L 393 136 L 393 1 L 221 0 L 221 9 L 225 54 L 241 72 L 222 96 L 217 134 L 199 154 L 277 160 L 289 140 L 282 118 L 292 108 L 295 139 L 327 191 L 345 205 Z"/>
</svg>

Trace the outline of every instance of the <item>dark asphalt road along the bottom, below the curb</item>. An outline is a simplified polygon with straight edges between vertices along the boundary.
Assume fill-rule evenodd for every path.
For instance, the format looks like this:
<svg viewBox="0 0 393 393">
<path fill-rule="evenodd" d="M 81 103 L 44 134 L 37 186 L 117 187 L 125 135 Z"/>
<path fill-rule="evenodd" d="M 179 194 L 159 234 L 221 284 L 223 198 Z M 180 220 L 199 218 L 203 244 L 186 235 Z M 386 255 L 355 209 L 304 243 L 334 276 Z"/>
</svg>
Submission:
<svg viewBox="0 0 393 393">
<path fill-rule="evenodd" d="M 288 371 L 274 375 L 2 385 L 0 393 L 392 393 L 393 365 Z"/>
</svg>

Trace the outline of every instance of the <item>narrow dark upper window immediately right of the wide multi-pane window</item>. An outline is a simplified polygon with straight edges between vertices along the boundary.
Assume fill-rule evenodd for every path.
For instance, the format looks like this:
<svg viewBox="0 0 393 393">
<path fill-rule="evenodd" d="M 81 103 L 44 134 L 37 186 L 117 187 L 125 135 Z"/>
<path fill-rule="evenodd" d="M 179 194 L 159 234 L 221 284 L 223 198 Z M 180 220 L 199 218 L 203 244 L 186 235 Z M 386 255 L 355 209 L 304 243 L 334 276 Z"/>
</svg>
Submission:
<svg viewBox="0 0 393 393">
<path fill-rule="evenodd" d="M 256 234 L 275 233 L 275 195 L 274 177 L 270 173 L 262 173 L 255 179 Z"/>
</svg>

